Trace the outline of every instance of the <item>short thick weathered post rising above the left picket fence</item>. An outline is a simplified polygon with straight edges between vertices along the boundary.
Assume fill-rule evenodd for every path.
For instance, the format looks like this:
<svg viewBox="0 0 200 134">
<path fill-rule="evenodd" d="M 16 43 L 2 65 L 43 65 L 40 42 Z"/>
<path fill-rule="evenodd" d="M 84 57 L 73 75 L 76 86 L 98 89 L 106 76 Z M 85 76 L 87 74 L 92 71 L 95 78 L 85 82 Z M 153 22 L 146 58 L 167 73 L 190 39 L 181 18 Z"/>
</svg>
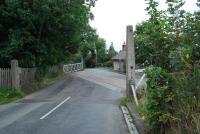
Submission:
<svg viewBox="0 0 200 134">
<path fill-rule="evenodd" d="M 11 61 L 12 88 L 20 90 L 19 66 L 17 60 Z"/>
</svg>

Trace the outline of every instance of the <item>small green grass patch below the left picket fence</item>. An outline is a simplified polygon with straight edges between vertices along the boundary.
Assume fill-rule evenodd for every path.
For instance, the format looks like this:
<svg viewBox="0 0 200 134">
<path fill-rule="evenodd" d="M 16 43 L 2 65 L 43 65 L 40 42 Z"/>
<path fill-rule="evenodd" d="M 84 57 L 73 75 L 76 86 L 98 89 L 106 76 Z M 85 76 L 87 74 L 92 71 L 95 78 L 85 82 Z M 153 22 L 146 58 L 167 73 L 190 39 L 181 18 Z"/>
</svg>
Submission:
<svg viewBox="0 0 200 134">
<path fill-rule="evenodd" d="M 24 95 L 23 92 L 13 88 L 0 88 L 0 105 L 16 101 Z"/>
</svg>

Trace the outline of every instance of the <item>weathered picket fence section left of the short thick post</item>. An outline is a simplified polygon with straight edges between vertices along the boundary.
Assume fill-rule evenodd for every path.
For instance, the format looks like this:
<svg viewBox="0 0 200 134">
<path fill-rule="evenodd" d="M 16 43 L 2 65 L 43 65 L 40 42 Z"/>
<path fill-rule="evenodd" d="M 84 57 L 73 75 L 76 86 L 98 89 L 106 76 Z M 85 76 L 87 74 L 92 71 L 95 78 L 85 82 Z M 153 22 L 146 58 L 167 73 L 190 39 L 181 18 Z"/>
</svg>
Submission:
<svg viewBox="0 0 200 134">
<path fill-rule="evenodd" d="M 10 88 L 11 86 L 11 70 L 9 68 L 0 68 L 0 88 Z"/>
</svg>

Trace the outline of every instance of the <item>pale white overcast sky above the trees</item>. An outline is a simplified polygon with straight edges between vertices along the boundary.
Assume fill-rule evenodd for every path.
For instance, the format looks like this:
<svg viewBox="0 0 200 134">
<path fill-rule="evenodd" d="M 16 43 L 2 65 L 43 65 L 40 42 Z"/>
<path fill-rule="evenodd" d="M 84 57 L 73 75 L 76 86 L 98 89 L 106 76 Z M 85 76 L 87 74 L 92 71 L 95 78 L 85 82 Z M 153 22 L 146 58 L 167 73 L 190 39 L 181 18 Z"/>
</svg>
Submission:
<svg viewBox="0 0 200 134">
<path fill-rule="evenodd" d="M 165 0 L 162 1 L 160 9 L 166 8 Z M 120 51 L 126 41 L 126 26 L 135 29 L 137 23 L 148 19 L 145 3 L 145 0 L 98 0 L 92 8 L 95 18 L 90 24 L 106 40 L 107 47 L 113 42 L 114 48 Z M 183 8 L 190 12 L 197 10 L 196 0 L 186 0 Z"/>
</svg>

